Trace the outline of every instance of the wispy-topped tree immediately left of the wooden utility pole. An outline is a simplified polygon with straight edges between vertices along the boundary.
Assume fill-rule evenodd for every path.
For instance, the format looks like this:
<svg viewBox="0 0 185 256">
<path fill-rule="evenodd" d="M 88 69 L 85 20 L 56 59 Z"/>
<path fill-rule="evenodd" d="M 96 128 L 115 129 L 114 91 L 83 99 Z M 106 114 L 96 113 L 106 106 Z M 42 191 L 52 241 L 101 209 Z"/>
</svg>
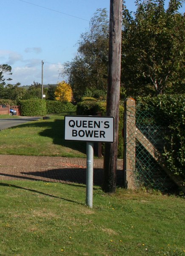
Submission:
<svg viewBox="0 0 185 256">
<path fill-rule="evenodd" d="M 95 90 L 107 90 L 108 69 L 108 15 L 106 9 L 98 9 L 90 20 L 89 31 L 78 42 L 78 55 L 65 63 L 64 74 L 68 76 L 74 99 Z M 63 73 L 61 73 L 63 75 Z M 89 90 L 90 89 L 90 90 Z"/>
</svg>

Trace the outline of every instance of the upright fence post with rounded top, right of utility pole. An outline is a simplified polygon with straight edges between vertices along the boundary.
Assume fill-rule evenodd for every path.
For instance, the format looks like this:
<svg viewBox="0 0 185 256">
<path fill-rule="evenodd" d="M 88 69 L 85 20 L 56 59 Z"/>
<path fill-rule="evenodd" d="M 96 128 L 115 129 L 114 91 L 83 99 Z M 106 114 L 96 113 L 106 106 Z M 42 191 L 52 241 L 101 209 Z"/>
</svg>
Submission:
<svg viewBox="0 0 185 256">
<path fill-rule="evenodd" d="M 123 127 L 123 186 L 135 189 L 134 173 L 136 168 L 136 105 L 135 100 L 128 98 L 124 103 Z"/>
</svg>

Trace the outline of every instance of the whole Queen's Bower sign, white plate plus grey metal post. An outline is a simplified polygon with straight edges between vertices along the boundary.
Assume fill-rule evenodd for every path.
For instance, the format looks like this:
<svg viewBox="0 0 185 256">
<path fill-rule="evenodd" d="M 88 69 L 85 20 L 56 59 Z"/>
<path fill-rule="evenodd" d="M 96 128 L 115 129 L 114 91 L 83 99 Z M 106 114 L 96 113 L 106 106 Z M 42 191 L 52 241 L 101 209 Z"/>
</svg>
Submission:
<svg viewBox="0 0 185 256">
<path fill-rule="evenodd" d="M 87 142 L 86 205 L 93 206 L 94 142 L 114 142 L 113 116 L 65 116 L 65 140 Z"/>
</svg>

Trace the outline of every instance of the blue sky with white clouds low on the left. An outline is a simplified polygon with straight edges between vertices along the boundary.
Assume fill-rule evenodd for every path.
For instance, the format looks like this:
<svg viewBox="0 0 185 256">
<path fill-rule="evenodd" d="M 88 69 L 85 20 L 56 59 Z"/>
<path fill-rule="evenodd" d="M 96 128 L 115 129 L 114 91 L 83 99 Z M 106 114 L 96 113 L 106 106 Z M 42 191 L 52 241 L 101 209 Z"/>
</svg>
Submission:
<svg viewBox="0 0 185 256">
<path fill-rule="evenodd" d="M 134 1 L 126 0 L 130 11 L 135 11 Z M 41 83 L 42 60 L 44 84 L 63 80 L 59 69 L 77 54 L 77 41 L 96 10 L 109 12 L 110 0 L 1 0 L 0 4 L 0 64 L 11 65 L 11 84 L 30 85 Z"/>
</svg>

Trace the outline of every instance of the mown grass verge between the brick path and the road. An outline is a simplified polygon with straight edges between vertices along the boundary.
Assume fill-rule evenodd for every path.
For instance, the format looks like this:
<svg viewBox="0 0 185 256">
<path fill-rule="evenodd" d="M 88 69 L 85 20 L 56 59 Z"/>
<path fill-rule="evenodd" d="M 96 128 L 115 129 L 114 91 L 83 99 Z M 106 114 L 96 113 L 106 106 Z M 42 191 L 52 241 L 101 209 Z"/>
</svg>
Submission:
<svg viewBox="0 0 185 256">
<path fill-rule="evenodd" d="M 64 115 L 0 131 L 0 154 L 85 157 L 85 143 L 64 140 Z"/>
</svg>

